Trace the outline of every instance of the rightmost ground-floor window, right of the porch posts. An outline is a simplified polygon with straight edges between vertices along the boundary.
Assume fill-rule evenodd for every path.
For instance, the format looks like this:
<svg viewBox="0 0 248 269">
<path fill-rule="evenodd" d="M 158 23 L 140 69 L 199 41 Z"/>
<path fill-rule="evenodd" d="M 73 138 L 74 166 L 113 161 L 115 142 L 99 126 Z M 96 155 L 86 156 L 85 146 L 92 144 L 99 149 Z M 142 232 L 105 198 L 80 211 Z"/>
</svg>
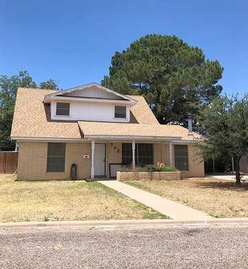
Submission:
<svg viewBox="0 0 248 269">
<path fill-rule="evenodd" d="M 174 158 L 178 170 L 189 170 L 187 145 L 174 145 Z"/>
</svg>

